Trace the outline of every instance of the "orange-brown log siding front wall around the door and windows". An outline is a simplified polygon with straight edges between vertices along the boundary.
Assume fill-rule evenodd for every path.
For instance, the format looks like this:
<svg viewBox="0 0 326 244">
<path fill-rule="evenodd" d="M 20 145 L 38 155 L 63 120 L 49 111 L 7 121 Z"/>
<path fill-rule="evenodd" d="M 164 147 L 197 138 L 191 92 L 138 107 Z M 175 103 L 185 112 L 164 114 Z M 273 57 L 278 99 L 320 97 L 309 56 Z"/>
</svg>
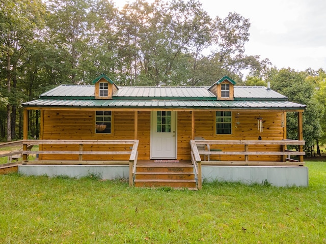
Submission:
<svg viewBox="0 0 326 244">
<path fill-rule="evenodd" d="M 243 112 L 239 111 L 238 121 L 236 125 L 235 114 L 232 112 L 232 134 L 231 135 L 216 135 L 215 132 L 215 111 L 194 111 L 195 113 L 195 136 L 204 137 L 206 140 L 257 140 L 258 136 L 262 140 L 282 140 L 286 136 L 282 127 L 281 112 Z M 139 160 L 150 159 L 150 111 L 138 112 L 138 139 L 139 139 Z M 44 110 L 41 113 L 41 139 L 73 139 L 73 140 L 91 140 L 91 139 L 134 139 L 134 111 L 113 111 L 112 112 L 112 133 L 111 134 L 96 134 L 95 133 L 95 111 L 68 111 L 68 110 Z M 263 117 L 263 132 L 257 130 L 257 117 Z M 285 116 L 286 119 L 286 116 Z M 178 111 L 177 112 L 177 159 L 191 160 L 189 140 L 192 138 L 192 112 Z M 43 145 L 40 146 L 43 150 L 70 150 L 71 145 Z M 104 145 L 93 146 L 85 145 L 84 150 L 129 150 L 120 146 L 105 147 Z M 241 149 L 239 145 L 224 145 L 218 149 L 232 150 Z M 250 150 L 275 151 L 280 150 L 279 146 L 260 146 L 260 148 L 249 148 Z M 243 148 L 244 150 L 244 148 Z M 60 158 L 58 158 L 60 157 Z M 115 159 L 107 158 L 111 156 L 84 156 L 84 160 L 128 160 L 126 156 L 117 156 Z M 277 157 L 277 156 L 276 156 Z M 266 156 L 250 156 L 250 161 L 281 161 L 281 158 Z M 78 160 L 78 155 L 40 155 L 40 160 Z M 212 160 L 243 160 L 240 156 L 222 156 L 212 158 Z"/>
</svg>

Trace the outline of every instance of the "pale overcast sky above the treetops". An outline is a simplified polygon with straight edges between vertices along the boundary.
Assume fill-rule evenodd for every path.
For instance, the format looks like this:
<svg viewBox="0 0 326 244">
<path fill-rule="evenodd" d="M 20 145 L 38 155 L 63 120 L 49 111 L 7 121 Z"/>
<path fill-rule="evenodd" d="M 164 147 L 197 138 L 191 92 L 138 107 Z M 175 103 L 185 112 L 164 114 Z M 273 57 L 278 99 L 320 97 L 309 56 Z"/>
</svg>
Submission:
<svg viewBox="0 0 326 244">
<path fill-rule="evenodd" d="M 268 58 L 278 69 L 326 70 L 325 0 L 199 1 L 211 18 L 225 18 L 230 12 L 236 12 L 249 19 L 247 55 Z M 123 7 L 133 1 L 114 2 L 117 7 Z"/>
</svg>

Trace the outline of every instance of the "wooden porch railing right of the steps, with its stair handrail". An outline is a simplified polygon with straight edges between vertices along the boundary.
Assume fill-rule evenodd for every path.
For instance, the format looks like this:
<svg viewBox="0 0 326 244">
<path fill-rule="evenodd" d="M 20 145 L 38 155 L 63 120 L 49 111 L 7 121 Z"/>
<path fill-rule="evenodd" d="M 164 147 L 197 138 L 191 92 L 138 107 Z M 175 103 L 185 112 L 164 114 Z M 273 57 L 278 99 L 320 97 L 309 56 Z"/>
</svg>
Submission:
<svg viewBox="0 0 326 244">
<path fill-rule="evenodd" d="M 302 151 L 302 146 L 299 146 L 299 151 L 288 150 L 287 145 L 304 145 L 303 140 L 191 140 L 191 157 L 192 163 L 195 168 L 195 172 L 198 178 L 198 189 L 201 189 L 201 166 L 202 165 L 251 165 L 251 166 L 303 166 L 303 156 L 305 152 Z M 227 150 L 198 150 L 197 145 L 220 145 L 224 148 L 230 145 Z M 232 145 L 232 147 L 231 147 Z M 243 149 L 233 149 L 233 145 L 243 145 Z M 273 145 L 281 148 L 279 151 L 270 150 L 257 150 L 258 145 Z M 213 146 L 215 147 L 215 146 Z M 201 146 L 200 148 L 205 148 Z M 206 147 L 207 148 L 207 147 Z M 238 147 L 239 148 L 239 147 Z M 223 155 L 229 156 L 243 156 L 242 160 L 229 160 L 229 161 L 202 161 L 201 155 L 209 156 L 205 158 L 210 158 L 210 156 L 221 157 Z M 282 160 L 280 161 L 250 161 L 250 156 L 280 156 Z M 291 156 L 299 156 L 298 160 L 292 159 Z"/>
</svg>

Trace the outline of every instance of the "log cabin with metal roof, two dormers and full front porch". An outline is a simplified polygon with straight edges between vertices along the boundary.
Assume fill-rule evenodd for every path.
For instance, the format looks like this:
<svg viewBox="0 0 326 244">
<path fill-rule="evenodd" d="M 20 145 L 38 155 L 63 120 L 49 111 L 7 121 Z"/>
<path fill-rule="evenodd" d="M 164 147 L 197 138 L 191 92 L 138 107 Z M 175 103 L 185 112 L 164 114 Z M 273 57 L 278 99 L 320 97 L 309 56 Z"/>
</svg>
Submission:
<svg viewBox="0 0 326 244">
<path fill-rule="evenodd" d="M 235 84 L 224 76 L 208 87 L 131 87 L 101 74 L 93 85 L 59 85 L 23 104 L 24 146 L 40 146 L 38 161 L 25 161 L 21 172 L 65 166 L 61 174 L 75 177 L 81 169 L 68 166 L 114 166 L 107 177 L 129 178 L 130 186 L 200 189 L 203 179 L 307 186 L 306 106 L 269 86 Z M 39 140 L 28 140 L 30 110 L 40 110 Z M 286 138 L 287 112 L 297 113 L 297 140 Z"/>
</svg>

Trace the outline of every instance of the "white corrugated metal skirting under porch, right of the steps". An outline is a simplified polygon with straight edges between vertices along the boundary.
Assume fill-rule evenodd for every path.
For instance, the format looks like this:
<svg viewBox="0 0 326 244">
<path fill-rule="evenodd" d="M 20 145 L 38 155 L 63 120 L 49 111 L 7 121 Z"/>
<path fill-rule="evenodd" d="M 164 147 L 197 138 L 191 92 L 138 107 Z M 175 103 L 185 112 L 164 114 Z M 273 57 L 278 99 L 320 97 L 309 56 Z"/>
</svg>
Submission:
<svg viewBox="0 0 326 244">
<path fill-rule="evenodd" d="M 277 187 L 308 187 L 307 167 L 273 166 L 202 166 L 202 179 L 208 182 L 229 181 Z"/>
</svg>

